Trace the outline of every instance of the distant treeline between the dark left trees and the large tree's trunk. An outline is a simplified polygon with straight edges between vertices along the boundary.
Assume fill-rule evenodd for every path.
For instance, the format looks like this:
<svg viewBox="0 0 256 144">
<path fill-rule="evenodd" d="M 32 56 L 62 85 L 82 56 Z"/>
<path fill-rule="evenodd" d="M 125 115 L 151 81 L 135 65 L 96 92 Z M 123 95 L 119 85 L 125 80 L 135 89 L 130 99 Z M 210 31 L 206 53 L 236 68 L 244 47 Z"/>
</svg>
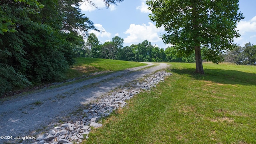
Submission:
<svg viewBox="0 0 256 144">
<path fill-rule="evenodd" d="M 123 47 L 124 39 L 116 36 L 111 42 L 100 44 L 97 36 L 91 33 L 86 41 L 86 47 L 77 52 L 78 57 L 108 58 L 137 62 L 195 62 L 195 55 L 182 57 L 174 47 L 166 50 L 154 46 L 148 40 L 139 44 Z"/>
</svg>

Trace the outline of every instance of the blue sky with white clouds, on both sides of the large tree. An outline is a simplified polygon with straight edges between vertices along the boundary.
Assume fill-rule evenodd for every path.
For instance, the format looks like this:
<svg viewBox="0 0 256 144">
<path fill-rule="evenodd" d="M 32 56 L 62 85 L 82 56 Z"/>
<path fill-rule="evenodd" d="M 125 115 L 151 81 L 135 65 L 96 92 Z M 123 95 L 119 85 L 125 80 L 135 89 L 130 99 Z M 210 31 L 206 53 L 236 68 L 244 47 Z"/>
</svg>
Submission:
<svg viewBox="0 0 256 144">
<path fill-rule="evenodd" d="M 113 37 L 119 36 L 124 39 L 123 46 L 138 44 L 148 40 L 152 45 L 160 48 L 167 48 L 170 45 L 163 43 L 160 34 L 164 34 L 164 28 L 156 28 L 155 23 L 150 21 L 147 10 L 146 0 L 124 0 L 118 5 L 111 5 L 106 9 L 102 0 L 92 0 L 98 9 L 89 5 L 82 4 L 82 13 L 85 14 L 98 30 L 96 34 L 101 43 L 111 41 Z M 245 16 L 244 20 L 237 24 L 240 38 L 235 38 L 234 43 L 244 46 L 247 42 L 256 44 L 256 0 L 240 0 L 239 8 Z"/>
</svg>

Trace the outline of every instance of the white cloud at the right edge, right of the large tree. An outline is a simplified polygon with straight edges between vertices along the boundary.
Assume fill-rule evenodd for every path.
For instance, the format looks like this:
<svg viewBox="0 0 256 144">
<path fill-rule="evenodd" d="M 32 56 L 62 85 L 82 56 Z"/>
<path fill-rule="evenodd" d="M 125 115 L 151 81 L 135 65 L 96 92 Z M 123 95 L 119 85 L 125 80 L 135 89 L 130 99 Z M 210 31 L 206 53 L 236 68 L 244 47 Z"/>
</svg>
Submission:
<svg viewBox="0 0 256 144">
<path fill-rule="evenodd" d="M 240 21 L 237 24 L 236 30 L 239 30 L 240 34 L 245 34 L 246 32 L 256 32 L 256 16 L 249 21 Z"/>
</svg>

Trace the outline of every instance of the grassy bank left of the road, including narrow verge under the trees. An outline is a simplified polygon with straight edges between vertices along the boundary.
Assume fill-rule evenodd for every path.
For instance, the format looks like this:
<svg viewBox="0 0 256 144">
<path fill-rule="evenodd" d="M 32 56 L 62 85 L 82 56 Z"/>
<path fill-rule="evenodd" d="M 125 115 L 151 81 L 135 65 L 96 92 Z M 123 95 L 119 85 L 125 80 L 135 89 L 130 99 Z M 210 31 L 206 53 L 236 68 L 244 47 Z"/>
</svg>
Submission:
<svg viewBox="0 0 256 144">
<path fill-rule="evenodd" d="M 60 82 L 60 81 L 79 78 L 79 77 L 82 78 L 82 76 L 86 77 L 95 72 L 99 72 L 98 74 L 102 74 L 106 72 L 114 72 L 119 70 L 125 70 L 127 68 L 133 68 L 133 67 L 145 66 L 145 65 L 146 64 L 139 63 L 139 62 L 128 62 L 128 61 L 122 61 L 122 60 L 109 60 L 109 59 L 101 59 L 101 58 L 76 58 L 76 64 L 74 64 L 72 68 L 68 69 L 64 78 L 54 82 Z M 84 78 L 81 80 L 84 80 Z M 44 88 L 47 85 L 50 86 L 50 83 L 52 82 L 37 83 L 37 84 L 34 84 L 33 86 L 29 86 L 28 88 L 22 88 L 22 89 L 17 88 L 13 90 L 12 93 L 6 94 L 4 96 L 0 96 L 0 98 L 12 96 L 14 94 L 21 93 L 21 92 L 30 93 L 33 90 Z M 70 82 L 66 84 L 70 84 Z M 62 85 L 59 85 L 59 86 L 62 86 Z M 54 86 L 51 86 L 51 88 L 54 88 Z"/>
</svg>

